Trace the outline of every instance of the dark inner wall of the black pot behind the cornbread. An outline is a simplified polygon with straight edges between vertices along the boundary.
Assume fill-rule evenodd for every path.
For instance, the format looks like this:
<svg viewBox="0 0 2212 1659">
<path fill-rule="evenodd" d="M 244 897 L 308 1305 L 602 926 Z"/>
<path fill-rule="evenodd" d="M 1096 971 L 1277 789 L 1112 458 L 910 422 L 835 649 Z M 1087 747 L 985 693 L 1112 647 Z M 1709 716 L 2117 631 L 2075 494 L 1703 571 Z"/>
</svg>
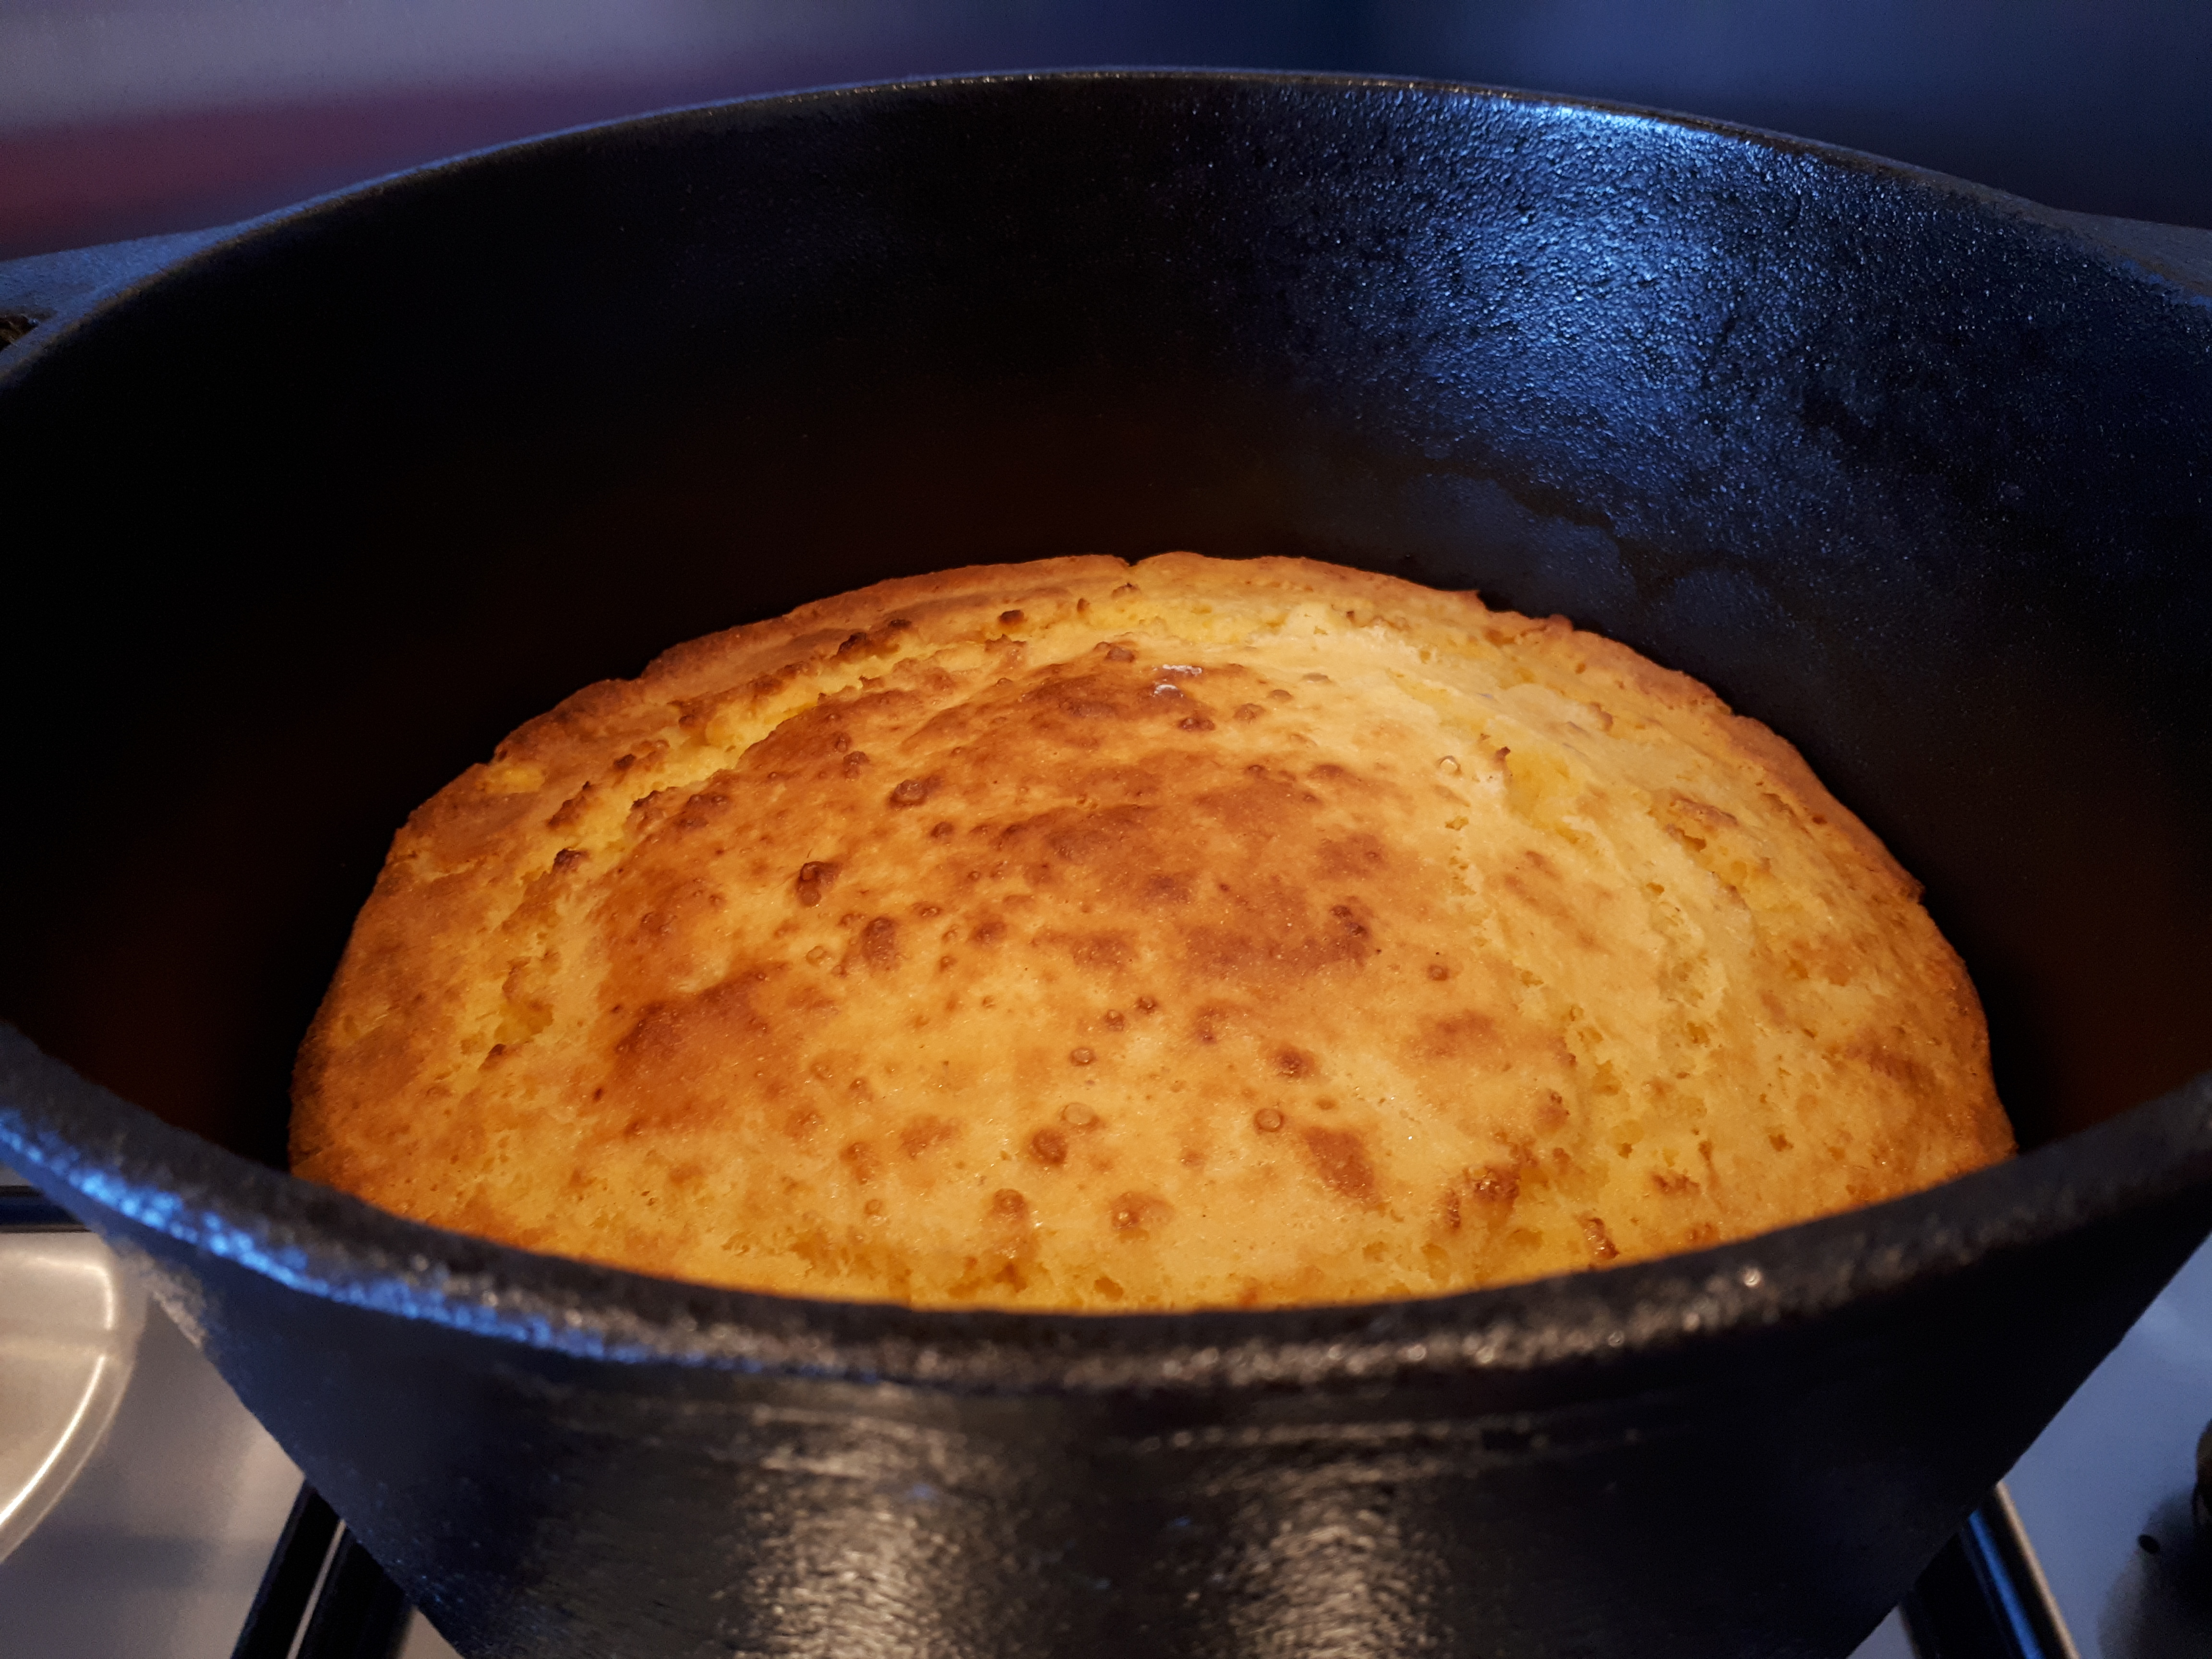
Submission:
<svg viewBox="0 0 2212 1659">
<path fill-rule="evenodd" d="M 0 1013 L 281 1161 L 407 810 L 568 690 L 947 564 L 1564 611 L 1929 887 L 2026 1141 L 2212 1066 L 2212 312 L 1639 117 L 1097 77 L 668 117 L 330 204 L 0 383 Z"/>
</svg>

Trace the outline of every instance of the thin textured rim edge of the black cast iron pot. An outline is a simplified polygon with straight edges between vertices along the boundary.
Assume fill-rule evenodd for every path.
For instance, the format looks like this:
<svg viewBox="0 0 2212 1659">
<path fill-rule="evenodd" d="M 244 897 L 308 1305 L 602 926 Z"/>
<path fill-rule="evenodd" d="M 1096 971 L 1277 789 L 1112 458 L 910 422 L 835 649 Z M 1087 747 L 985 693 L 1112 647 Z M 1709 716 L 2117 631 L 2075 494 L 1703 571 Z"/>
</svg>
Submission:
<svg viewBox="0 0 2212 1659">
<path fill-rule="evenodd" d="M 737 135 L 852 102 L 1029 84 L 1436 95 L 1582 111 L 1874 173 L 2033 219 L 2115 261 L 2075 215 L 1900 161 L 1697 115 L 1584 97 L 1380 75 L 1088 69 L 827 86 L 566 128 L 374 179 L 210 232 L 181 259 L 40 327 L 0 365 L 0 392 L 135 294 L 374 212 L 383 197 L 571 146 Z M 2132 263 L 2132 261 L 2130 261 Z M 2146 279 L 2141 265 L 2130 274 Z M 2148 276 L 2157 281 L 2157 274 Z M 1383 1385 L 1610 1365 L 1765 1327 L 2028 1250 L 2126 1210 L 2212 1186 L 2212 1073 L 2008 1164 L 1865 1210 L 1708 1250 L 1447 1296 L 1274 1310 L 1075 1314 L 911 1310 L 719 1290 L 498 1245 L 378 1210 L 228 1152 L 86 1082 L 0 1024 L 0 1148 L 95 1230 L 146 1230 L 332 1303 L 500 1343 L 626 1365 L 902 1383 L 947 1391 L 1197 1394 Z"/>
</svg>

